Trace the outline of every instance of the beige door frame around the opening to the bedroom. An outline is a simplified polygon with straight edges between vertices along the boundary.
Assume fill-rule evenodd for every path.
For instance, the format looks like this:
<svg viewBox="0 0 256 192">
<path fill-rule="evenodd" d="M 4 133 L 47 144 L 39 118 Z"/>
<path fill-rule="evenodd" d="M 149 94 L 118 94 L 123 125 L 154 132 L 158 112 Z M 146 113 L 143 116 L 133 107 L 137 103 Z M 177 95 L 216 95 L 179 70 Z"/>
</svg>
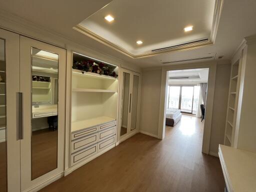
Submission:
<svg viewBox="0 0 256 192">
<path fill-rule="evenodd" d="M 169 70 L 209 68 L 208 82 L 207 82 L 207 99 L 206 99 L 207 111 L 205 110 L 203 137 L 202 137 L 202 152 L 205 154 L 209 153 L 216 66 L 217 66 L 217 62 L 209 61 L 209 62 L 198 62 L 198 63 L 174 64 L 174 65 L 162 67 L 160 104 L 159 104 L 159 116 L 158 116 L 158 138 L 163 139 L 165 136 L 165 116 L 166 116 L 165 106 L 167 101 L 167 84 L 168 84 L 167 72 Z"/>
</svg>

